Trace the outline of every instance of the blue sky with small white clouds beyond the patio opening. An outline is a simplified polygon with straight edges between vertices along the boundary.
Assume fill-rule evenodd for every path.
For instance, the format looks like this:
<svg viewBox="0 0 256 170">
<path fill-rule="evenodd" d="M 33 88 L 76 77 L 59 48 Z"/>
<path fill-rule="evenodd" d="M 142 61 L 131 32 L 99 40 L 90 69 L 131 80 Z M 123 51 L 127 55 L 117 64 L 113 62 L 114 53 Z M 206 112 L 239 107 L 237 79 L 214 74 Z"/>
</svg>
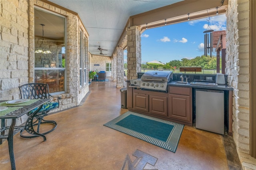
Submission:
<svg viewBox="0 0 256 170">
<path fill-rule="evenodd" d="M 168 63 L 172 60 L 192 59 L 204 55 L 204 31 L 209 18 L 187 21 L 163 27 L 146 29 L 141 35 L 142 63 L 157 60 Z M 210 17 L 210 29 L 226 30 L 226 16 Z M 214 53 L 213 55 L 216 55 Z M 124 51 L 124 62 L 127 63 Z"/>
</svg>

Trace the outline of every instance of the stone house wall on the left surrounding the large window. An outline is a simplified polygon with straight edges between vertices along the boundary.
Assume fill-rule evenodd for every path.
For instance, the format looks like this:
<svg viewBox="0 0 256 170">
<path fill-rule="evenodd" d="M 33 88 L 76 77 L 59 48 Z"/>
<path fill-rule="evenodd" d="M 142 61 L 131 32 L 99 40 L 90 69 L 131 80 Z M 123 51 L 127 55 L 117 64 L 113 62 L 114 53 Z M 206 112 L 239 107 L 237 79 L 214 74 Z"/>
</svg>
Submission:
<svg viewBox="0 0 256 170">
<path fill-rule="evenodd" d="M 0 100 L 20 98 L 18 86 L 34 82 L 34 6 L 56 12 L 67 18 L 66 72 L 67 91 L 59 94 L 57 110 L 77 106 L 89 91 L 88 83 L 79 85 L 79 29 L 88 34 L 76 14 L 51 6 L 40 0 L 3 0 L 0 8 Z M 86 42 L 88 49 L 88 41 Z M 88 50 L 85 54 L 88 68 Z M 86 75 L 88 79 L 88 74 Z M 88 82 L 88 81 L 87 81 Z M 20 125 L 26 115 L 16 121 Z M 7 121 L 10 124 L 10 121 Z"/>
</svg>

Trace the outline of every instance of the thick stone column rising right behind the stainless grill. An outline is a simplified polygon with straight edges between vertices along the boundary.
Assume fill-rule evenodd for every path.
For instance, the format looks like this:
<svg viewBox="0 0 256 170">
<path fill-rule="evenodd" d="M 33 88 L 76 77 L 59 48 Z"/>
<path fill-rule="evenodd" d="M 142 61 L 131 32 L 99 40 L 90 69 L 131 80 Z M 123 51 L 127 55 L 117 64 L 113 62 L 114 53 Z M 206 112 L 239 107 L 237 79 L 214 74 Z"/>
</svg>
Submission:
<svg viewBox="0 0 256 170">
<path fill-rule="evenodd" d="M 138 78 L 141 72 L 141 38 L 140 27 L 132 26 L 127 29 L 127 80 Z"/>
</svg>

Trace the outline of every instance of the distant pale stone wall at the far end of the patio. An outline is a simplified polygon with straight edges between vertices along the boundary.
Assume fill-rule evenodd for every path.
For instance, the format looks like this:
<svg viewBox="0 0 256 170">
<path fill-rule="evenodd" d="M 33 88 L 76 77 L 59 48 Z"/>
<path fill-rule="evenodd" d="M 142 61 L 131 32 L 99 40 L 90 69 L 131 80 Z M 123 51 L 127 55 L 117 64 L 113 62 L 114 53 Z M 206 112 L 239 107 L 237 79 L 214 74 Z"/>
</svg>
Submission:
<svg viewBox="0 0 256 170">
<path fill-rule="evenodd" d="M 111 63 L 111 58 L 102 55 L 91 55 L 90 57 L 90 71 L 98 70 L 106 71 L 106 63 Z M 94 65 L 96 64 L 96 65 Z M 98 66 L 99 65 L 99 66 Z M 111 77 L 111 72 L 106 72 L 107 77 Z"/>
</svg>

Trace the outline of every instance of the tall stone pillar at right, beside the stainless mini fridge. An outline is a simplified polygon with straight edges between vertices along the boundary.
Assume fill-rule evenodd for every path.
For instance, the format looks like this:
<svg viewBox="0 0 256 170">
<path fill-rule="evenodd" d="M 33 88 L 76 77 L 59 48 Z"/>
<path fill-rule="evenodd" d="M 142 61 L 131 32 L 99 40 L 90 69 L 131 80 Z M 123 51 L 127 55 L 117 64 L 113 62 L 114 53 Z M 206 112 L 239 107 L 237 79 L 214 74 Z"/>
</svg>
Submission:
<svg viewBox="0 0 256 170">
<path fill-rule="evenodd" d="M 256 169 L 250 156 L 249 0 L 229 0 L 226 36 L 226 74 L 233 92 L 233 138 L 242 167 Z"/>
</svg>

